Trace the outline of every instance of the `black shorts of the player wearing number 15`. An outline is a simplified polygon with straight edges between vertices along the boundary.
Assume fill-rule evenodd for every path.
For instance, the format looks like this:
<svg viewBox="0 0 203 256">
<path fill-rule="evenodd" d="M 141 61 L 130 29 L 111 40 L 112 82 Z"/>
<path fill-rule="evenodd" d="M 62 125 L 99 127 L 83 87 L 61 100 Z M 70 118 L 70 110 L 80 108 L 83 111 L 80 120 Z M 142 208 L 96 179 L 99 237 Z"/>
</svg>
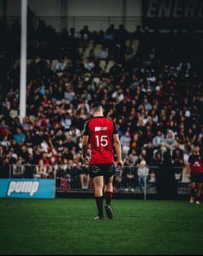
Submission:
<svg viewBox="0 0 203 256">
<path fill-rule="evenodd" d="M 90 176 L 95 178 L 98 176 L 104 176 L 105 180 L 109 179 L 115 174 L 115 166 L 111 164 L 92 164 L 90 165 Z"/>
</svg>

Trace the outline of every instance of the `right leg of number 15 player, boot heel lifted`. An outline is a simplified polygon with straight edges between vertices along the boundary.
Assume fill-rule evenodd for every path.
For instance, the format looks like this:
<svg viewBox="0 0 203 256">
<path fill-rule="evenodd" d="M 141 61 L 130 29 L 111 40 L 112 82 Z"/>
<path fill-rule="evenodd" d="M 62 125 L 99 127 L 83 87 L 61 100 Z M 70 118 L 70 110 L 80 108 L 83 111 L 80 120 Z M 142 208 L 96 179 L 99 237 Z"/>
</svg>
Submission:
<svg viewBox="0 0 203 256">
<path fill-rule="evenodd" d="M 111 176 L 105 184 L 105 212 L 108 219 L 113 219 L 113 212 L 111 209 L 111 199 L 113 195 L 113 176 Z"/>
</svg>

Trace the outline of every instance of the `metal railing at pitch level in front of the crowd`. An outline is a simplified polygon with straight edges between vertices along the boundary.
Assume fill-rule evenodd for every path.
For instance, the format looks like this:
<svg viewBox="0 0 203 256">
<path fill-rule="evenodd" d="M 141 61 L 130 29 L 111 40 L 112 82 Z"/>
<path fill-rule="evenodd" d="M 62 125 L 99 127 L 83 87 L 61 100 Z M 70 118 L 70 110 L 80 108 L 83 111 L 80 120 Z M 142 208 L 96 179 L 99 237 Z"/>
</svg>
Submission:
<svg viewBox="0 0 203 256">
<path fill-rule="evenodd" d="M 113 181 L 114 191 L 125 194 L 143 194 L 144 199 L 148 194 L 157 194 L 157 180 L 159 179 L 157 170 L 160 167 L 149 166 L 148 168 L 149 174 L 143 178 L 137 175 L 138 167 L 136 166 L 124 166 L 122 170 L 116 169 Z M 3 173 L 3 170 L 0 173 Z M 10 165 L 7 174 L 4 174 L 4 178 L 55 179 L 57 192 L 92 192 L 94 189 L 89 168 L 76 164 L 71 166 L 57 164 L 17 166 L 13 164 Z M 185 167 L 174 167 L 174 186 L 177 189 L 177 194 L 189 194 L 188 184 Z"/>
</svg>

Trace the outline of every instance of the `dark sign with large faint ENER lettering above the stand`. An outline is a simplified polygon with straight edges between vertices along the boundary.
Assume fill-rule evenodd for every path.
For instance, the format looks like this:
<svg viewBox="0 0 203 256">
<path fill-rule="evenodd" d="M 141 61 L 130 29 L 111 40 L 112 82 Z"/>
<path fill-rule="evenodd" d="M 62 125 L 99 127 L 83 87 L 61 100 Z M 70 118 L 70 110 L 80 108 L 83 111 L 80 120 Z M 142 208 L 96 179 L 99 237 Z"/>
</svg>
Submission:
<svg viewBox="0 0 203 256">
<path fill-rule="evenodd" d="M 143 0 L 143 25 L 150 29 L 203 29 L 202 0 Z"/>
</svg>

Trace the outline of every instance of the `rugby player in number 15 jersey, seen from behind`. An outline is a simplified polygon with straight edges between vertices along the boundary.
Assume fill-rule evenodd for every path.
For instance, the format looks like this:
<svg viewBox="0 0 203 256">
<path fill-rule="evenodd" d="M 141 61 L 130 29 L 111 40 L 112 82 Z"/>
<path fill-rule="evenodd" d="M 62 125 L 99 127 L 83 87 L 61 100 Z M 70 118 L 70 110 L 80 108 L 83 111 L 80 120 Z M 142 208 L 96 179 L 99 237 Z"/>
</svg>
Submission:
<svg viewBox="0 0 203 256">
<path fill-rule="evenodd" d="M 117 168 L 124 163 L 121 156 L 121 144 L 114 121 L 104 116 L 104 108 L 99 102 L 91 105 L 92 119 L 84 126 L 82 153 L 83 161 L 89 164 L 90 176 L 94 183 L 94 196 L 98 208 L 95 220 L 104 220 L 103 198 L 105 198 L 105 213 L 108 219 L 113 219 L 111 199 L 113 194 L 113 176 L 115 174 L 113 146 L 117 154 Z M 91 155 L 88 157 L 90 143 Z"/>
</svg>

